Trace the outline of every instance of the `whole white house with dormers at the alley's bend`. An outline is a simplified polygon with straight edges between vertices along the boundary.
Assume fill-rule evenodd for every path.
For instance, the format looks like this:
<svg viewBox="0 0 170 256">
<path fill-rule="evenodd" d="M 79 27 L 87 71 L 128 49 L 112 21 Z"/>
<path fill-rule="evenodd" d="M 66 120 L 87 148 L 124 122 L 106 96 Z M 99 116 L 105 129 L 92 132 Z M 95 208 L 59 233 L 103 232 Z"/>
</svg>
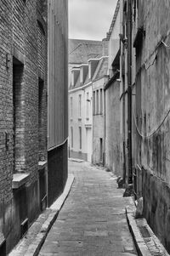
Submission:
<svg viewBox="0 0 170 256">
<path fill-rule="evenodd" d="M 92 82 L 88 82 L 88 65 L 73 67 L 69 90 L 70 157 L 92 161 Z"/>
</svg>

